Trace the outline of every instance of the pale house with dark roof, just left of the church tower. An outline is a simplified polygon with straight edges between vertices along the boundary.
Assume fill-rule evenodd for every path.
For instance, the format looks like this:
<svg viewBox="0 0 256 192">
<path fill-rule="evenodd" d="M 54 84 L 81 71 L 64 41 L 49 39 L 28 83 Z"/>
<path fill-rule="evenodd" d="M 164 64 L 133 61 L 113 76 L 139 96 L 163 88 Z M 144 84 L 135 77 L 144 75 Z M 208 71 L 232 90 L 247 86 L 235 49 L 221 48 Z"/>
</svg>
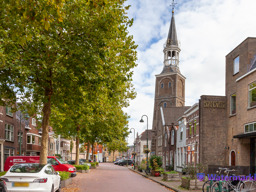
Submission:
<svg viewBox="0 0 256 192">
<path fill-rule="evenodd" d="M 143 150 L 147 148 L 147 131 L 148 131 L 148 148 L 151 148 L 151 142 L 152 142 L 152 130 L 145 130 L 142 132 L 142 134 L 136 135 L 135 138 L 135 152 L 137 155 L 135 156 L 135 162 L 141 162 L 142 160 L 146 159 L 146 154 L 143 153 Z M 150 154 L 148 154 L 148 158 L 150 157 Z M 154 153 L 153 153 L 154 154 Z"/>
</svg>

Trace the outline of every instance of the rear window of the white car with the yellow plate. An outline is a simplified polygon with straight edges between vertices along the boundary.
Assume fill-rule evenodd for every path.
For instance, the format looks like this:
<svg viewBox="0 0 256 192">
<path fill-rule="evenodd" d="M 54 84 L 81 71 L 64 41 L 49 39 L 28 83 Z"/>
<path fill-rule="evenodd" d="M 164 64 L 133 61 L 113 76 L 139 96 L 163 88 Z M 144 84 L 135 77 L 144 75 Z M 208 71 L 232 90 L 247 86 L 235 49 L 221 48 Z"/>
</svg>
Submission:
<svg viewBox="0 0 256 192">
<path fill-rule="evenodd" d="M 19 163 L 12 166 L 11 173 L 38 173 L 46 164 L 39 163 Z"/>
</svg>

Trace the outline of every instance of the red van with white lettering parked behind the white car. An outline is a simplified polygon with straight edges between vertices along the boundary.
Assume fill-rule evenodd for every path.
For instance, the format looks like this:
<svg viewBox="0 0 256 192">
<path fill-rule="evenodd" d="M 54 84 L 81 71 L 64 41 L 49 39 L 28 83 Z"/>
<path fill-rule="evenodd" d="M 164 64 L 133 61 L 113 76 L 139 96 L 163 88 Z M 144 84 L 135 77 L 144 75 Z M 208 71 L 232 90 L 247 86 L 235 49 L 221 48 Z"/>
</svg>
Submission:
<svg viewBox="0 0 256 192">
<path fill-rule="evenodd" d="M 8 171 L 11 166 L 16 163 L 39 163 L 40 156 L 9 156 L 6 158 L 4 170 Z M 47 164 L 53 166 L 55 171 L 66 171 L 71 173 L 71 177 L 75 177 L 76 168 L 58 156 L 47 156 Z"/>
</svg>

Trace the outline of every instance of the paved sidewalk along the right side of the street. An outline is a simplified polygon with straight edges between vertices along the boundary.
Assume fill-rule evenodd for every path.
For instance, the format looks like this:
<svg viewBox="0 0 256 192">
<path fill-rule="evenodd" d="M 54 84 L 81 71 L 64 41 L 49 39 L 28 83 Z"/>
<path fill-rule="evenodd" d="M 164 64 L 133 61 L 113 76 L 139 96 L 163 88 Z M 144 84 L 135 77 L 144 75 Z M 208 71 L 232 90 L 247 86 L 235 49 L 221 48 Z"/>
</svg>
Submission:
<svg viewBox="0 0 256 192">
<path fill-rule="evenodd" d="M 159 183 L 163 186 L 166 186 L 166 187 L 168 187 L 168 188 L 170 188 L 170 189 L 172 189 L 176 192 L 202 192 L 202 190 L 187 190 L 187 189 L 181 187 L 180 186 L 181 181 L 162 181 L 162 179 L 164 177 L 160 177 L 160 176 L 159 177 L 154 177 L 154 176 L 151 176 L 151 175 L 147 175 L 146 173 L 139 172 L 138 169 L 133 170 L 132 166 L 128 166 L 128 168 L 130 170 L 132 170 L 132 171 L 134 171 L 138 174 L 141 174 L 142 176 L 144 176 L 146 178 L 149 178 L 149 179 L 151 179 L 151 180 L 153 180 L 153 181 L 155 181 L 155 182 L 157 182 L 157 183 Z M 181 178 L 182 178 L 182 175 L 180 175 L 180 180 L 181 180 Z"/>
</svg>

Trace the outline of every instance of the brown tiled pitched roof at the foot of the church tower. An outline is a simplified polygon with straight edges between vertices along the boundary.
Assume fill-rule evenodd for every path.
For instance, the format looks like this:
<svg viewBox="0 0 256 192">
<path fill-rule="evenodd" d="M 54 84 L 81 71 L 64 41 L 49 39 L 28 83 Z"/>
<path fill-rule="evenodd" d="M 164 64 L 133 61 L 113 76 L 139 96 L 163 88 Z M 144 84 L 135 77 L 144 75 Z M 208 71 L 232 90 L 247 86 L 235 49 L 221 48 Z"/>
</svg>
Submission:
<svg viewBox="0 0 256 192">
<path fill-rule="evenodd" d="M 191 106 L 184 106 L 184 107 L 163 107 L 163 114 L 164 114 L 164 122 L 165 125 L 179 125 L 177 121 L 178 118 L 184 115 L 184 112 L 188 110 Z"/>
</svg>

